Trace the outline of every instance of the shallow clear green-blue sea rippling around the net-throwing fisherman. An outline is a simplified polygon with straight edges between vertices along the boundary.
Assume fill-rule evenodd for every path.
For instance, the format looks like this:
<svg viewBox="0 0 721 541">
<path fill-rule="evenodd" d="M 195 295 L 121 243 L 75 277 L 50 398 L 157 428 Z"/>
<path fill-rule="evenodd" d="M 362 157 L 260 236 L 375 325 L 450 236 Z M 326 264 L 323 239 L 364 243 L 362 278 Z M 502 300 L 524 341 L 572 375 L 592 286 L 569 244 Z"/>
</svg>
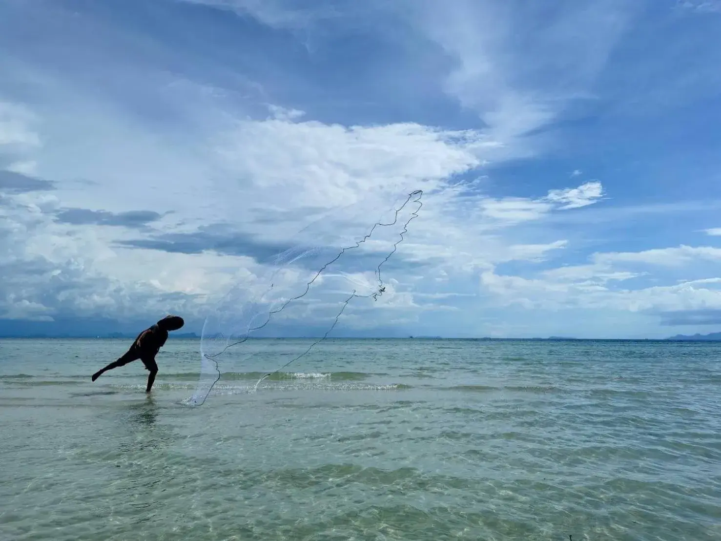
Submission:
<svg viewBox="0 0 721 541">
<path fill-rule="evenodd" d="M 721 540 L 721 343 L 130 343 L 0 340 L 1 540 Z"/>
</svg>

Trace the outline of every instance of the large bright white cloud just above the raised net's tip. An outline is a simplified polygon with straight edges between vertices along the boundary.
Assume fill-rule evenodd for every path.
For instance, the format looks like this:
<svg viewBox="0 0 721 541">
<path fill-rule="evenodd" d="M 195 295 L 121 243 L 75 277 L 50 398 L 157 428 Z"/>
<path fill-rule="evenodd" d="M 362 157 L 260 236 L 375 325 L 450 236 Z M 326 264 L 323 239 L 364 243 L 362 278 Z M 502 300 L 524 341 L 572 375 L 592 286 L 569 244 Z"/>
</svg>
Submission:
<svg viewBox="0 0 721 541">
<path fill-rule="evenodd" d="M 282 198 L 286 209 L 332 208 L 386 187 L 438 188 L 446 177 L 477 167 L 483 143 L 481 133 L 413 123 L 242 121 L 218 136 L 216 154 L 227 177 L 246 180 L 236 189 L 253 191 L 244 198 L 248 206 L 278 208 Z"/>
</svg>

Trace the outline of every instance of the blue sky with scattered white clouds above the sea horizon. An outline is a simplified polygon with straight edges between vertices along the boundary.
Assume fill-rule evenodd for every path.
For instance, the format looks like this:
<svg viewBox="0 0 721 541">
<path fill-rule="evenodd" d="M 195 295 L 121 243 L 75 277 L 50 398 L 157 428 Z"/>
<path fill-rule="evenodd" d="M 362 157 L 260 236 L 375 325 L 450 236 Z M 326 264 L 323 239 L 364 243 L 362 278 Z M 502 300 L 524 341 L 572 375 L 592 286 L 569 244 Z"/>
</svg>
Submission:
<svg viewBox="0 0 721 541">
<path fill-rule="evenodd" d="M 720 65 L 718 0 L 0 0 L 0 335 L 224 332 L 416 190 L 279 332 L 716 332 Z"/>
</svg>

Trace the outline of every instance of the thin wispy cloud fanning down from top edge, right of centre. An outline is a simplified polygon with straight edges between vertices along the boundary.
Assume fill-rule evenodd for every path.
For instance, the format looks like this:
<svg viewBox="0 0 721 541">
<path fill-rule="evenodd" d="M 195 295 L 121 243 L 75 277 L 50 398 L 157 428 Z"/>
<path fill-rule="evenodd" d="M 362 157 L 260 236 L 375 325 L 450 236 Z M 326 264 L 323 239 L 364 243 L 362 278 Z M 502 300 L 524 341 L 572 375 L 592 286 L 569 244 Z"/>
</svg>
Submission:
<svg viewBox="0 0 721 541">
<path fill-rule="evenodd" d="M 516 10 L 493 1 L 415 2 L 403 9 L 456 57 L 448 93 L 477 110 L 494 138 L 509 142 L 547 126 L 569 102 L 591 97 L 629 7 L 613 0 L 562 2 L 541 26 L 544 8 L 535 4 Z"/>
</svg>

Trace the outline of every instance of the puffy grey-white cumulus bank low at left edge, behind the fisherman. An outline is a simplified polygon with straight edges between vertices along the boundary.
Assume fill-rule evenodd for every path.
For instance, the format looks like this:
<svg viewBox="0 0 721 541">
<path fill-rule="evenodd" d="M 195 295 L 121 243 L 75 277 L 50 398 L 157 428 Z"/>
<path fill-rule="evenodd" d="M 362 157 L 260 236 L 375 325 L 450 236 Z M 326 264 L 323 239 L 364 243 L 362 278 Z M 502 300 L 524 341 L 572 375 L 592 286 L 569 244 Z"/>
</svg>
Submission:
<svg viewBox="0 0 721 541">
<path fill-rule="evenodd" d="M 164 291 L 149 281 L 124 281 L 97 268 L 116 258 L 92 231 L 68 237 L 53 221 L 56 198 L 12 196 L 0 206 L 0 318 L 52 320 L 58 316 L 120 319 L 138 313 L 162 313 L 169 307 Z M 182 307 L 190 298 L 176 296 Z"/>
</svg>

